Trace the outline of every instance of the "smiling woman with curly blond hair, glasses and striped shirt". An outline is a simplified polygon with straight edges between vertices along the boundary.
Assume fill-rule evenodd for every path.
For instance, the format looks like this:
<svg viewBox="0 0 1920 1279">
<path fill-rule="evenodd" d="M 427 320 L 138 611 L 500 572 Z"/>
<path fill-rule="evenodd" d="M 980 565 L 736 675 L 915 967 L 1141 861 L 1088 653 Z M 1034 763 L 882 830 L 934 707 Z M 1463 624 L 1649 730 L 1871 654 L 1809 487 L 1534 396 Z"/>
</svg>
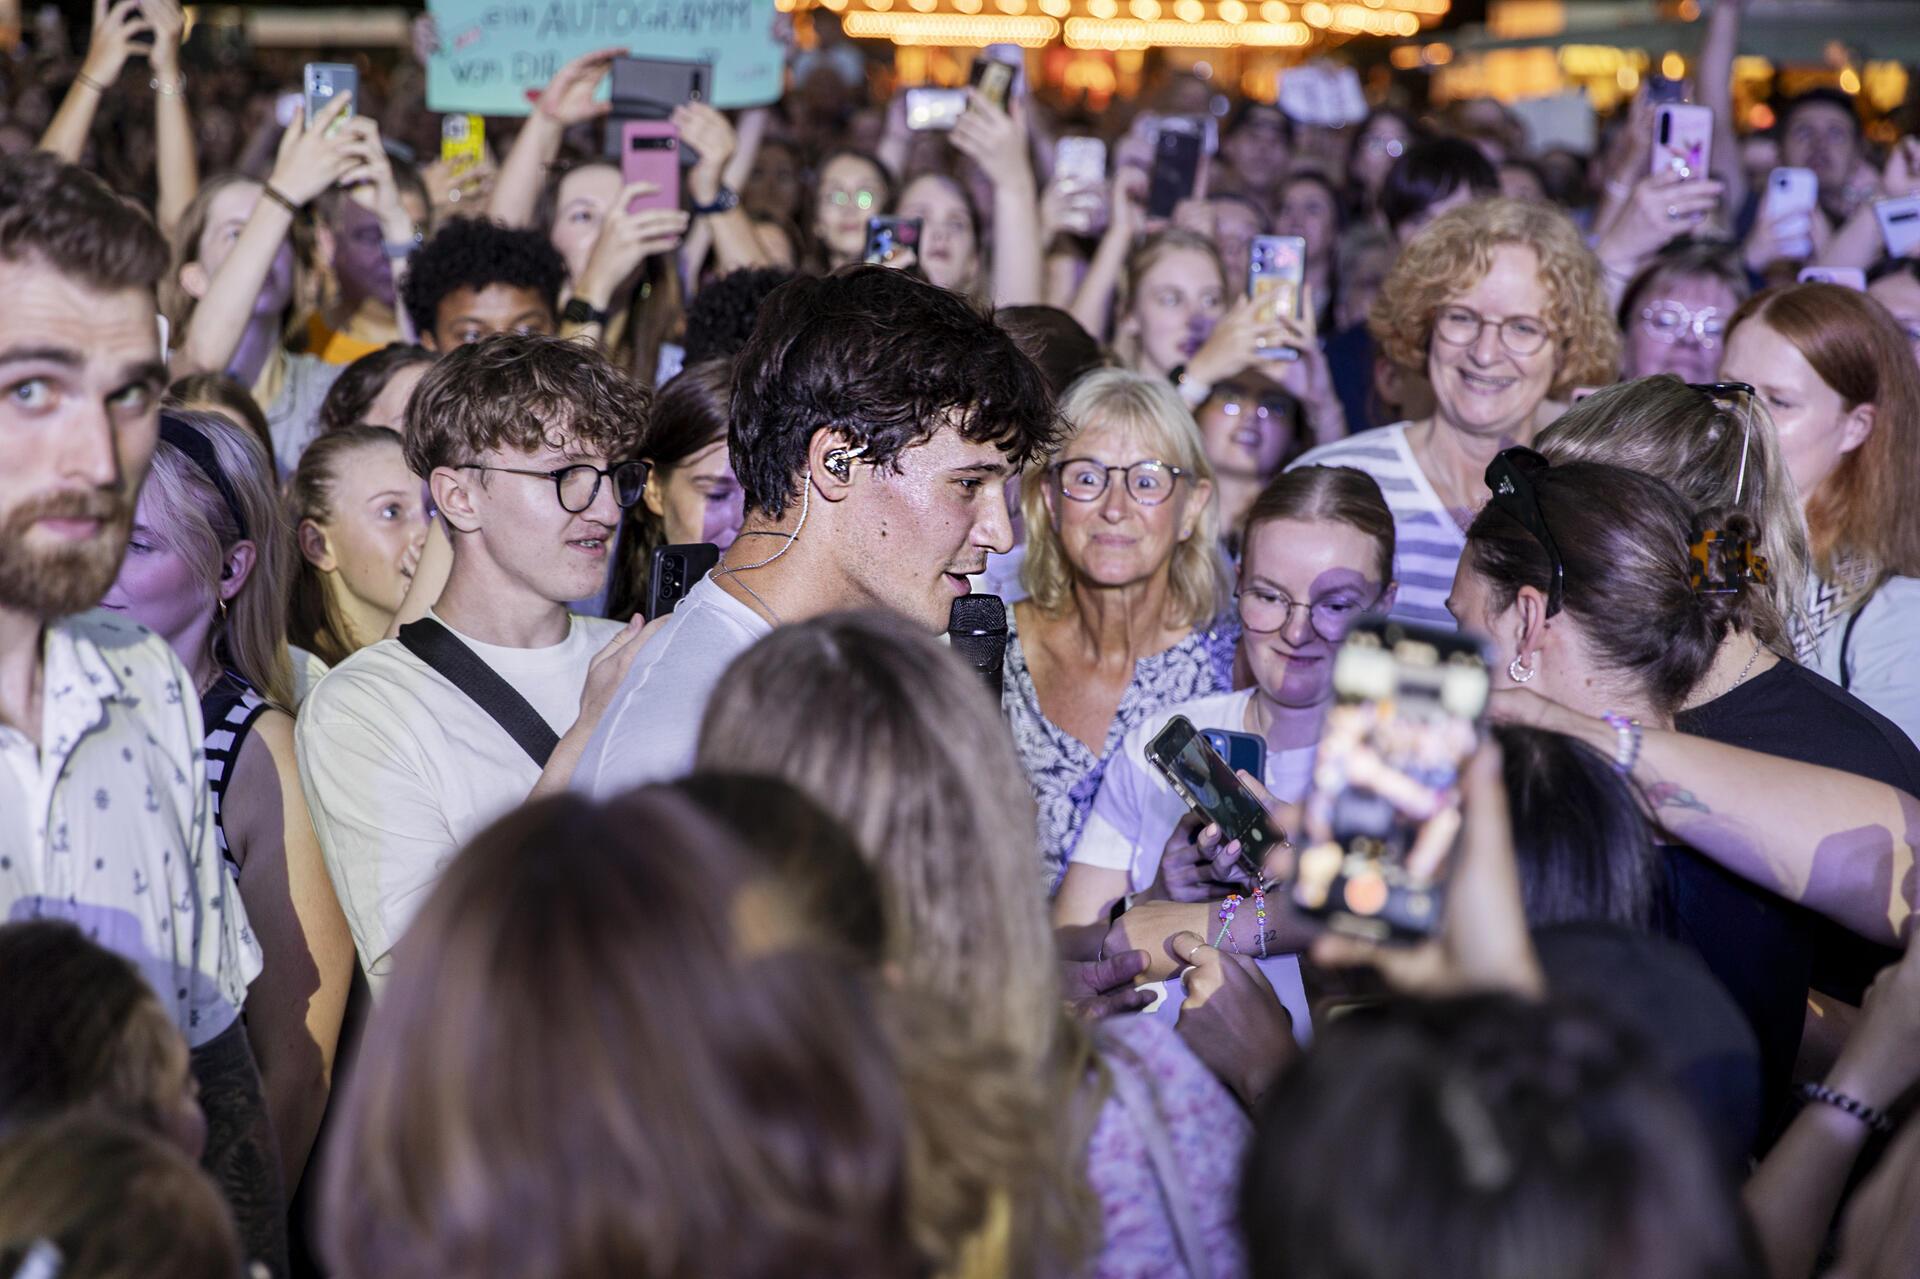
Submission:
<svg viewBox="0 0 1920 1279">
<path fill-rule="evenodd" d="M 1442 213 L 1400 253 L 1369 328 L 1432 382 L 1434 411 L 1311 449 L 1356 467 L 1394 511 L 1394 615 L 1452 626 L 1446 595 L 1494 455 L 1555 415 L 1549 399 L 1611 382 L 1620 334 L 1599 263 L 1557 209 L 1480 200 Z"/>
</svg>

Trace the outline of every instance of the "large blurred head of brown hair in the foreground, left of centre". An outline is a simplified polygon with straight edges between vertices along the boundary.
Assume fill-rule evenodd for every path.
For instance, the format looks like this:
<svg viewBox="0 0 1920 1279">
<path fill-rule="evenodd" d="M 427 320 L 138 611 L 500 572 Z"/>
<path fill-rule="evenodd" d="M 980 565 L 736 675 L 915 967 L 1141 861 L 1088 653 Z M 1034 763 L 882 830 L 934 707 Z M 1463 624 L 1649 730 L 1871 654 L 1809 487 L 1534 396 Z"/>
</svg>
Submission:
<svg viewBox="0 0 1920 1279">
<path fill-rule="evenodd" d="M 914 1271 L 866 985 L 685 795 L 511 812 L 397 958 L 330 1150 L 342 1279 Z"/>
</svg>

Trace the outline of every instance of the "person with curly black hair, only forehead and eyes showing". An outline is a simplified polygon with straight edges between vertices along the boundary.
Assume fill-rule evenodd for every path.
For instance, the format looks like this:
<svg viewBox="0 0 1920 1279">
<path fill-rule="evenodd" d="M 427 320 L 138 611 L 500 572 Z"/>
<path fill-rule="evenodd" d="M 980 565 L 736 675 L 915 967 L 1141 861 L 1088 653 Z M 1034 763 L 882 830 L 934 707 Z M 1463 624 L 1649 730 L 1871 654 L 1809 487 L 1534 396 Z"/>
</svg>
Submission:
<svg viewBox="0 0 1920 1279">
<path fill-rule="evenodd" d="M 455 217 L 407 261 L 401 300 L 430 351 L 559 330 L 566 261 L 538 230 Z"/>
</svg>

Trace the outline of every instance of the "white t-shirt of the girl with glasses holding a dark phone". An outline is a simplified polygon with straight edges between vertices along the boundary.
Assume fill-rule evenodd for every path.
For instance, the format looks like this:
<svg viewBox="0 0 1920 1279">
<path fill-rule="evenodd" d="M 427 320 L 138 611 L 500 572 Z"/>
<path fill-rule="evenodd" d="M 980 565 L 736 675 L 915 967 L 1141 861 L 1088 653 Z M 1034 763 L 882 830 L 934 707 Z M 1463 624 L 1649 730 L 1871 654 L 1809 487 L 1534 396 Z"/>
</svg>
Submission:
<svg viewBox="0 0 1920 1279">
<path fill-rule="evenodd" d="M 1238 693 L 1208 693 L 1175 707 L 1167 707 L 1150 716 L 1144 724 L 1125 736 L 1100 780 L 1100 793 L 1094 795 L 1092 810 L 1087 814 L 1087 830 L 1073 847 L 1069 862 L 1125 870 L 1129 891 L 1142 893 L 1160 874 L 1160 855 L 1167 847 L 1173 830 L 1187 816 L 1187 803 L 1173 793 L 1160 770 L 1146 760 L 1146 745 L 1173 720 L 1185 714 L 1194 728 L 1225 728 L 1236 734 L 1246 732 L 1246 707 L 1254 701 L 1256 689 Z M 1283 803 L 1298 803 L 1313 776 L 1313 749 L 1269 751 L 1261 782 L 1273 797 Z M 1252 906 L 1242 906 L 1252 910 Z M 1213 941 L 1210 935 L 1208 941 Z M 1308 1014 L 1308 995 L 1300 981 L 1300 960 L 1292 954 L 1260 960 L 1260 970 L 1273 983 L 1273 993 L 1281 997 L 1286 1010 L 1294 1014 L 1294 1035 L 1300 1043 L 1311 1037 Z M 1167 981 L 1165 1001 L 1154 1016 L 1177 1018 L 1185 989 Z"/>
</svg>

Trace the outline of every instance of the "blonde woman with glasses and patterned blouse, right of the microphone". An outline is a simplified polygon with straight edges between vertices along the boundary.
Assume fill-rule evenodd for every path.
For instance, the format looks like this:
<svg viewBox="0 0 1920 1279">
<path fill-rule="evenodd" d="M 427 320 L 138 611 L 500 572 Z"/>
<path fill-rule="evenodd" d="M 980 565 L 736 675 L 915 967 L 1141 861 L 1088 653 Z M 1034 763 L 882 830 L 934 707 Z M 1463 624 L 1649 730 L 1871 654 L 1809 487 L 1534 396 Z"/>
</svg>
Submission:
<svg viewBox="0 0 1920 1279">
<path fill-rule="evenodd" d="M 1060 405 L 1069 438 L 1027 469 L 1027 599 L 1002 705 L 1041 805 L 1048 889 L 1114 747 L 1162 707 L 1233 688 L 1213 467 L 1165 378 L 1100 369 Z"/>
</svg>

